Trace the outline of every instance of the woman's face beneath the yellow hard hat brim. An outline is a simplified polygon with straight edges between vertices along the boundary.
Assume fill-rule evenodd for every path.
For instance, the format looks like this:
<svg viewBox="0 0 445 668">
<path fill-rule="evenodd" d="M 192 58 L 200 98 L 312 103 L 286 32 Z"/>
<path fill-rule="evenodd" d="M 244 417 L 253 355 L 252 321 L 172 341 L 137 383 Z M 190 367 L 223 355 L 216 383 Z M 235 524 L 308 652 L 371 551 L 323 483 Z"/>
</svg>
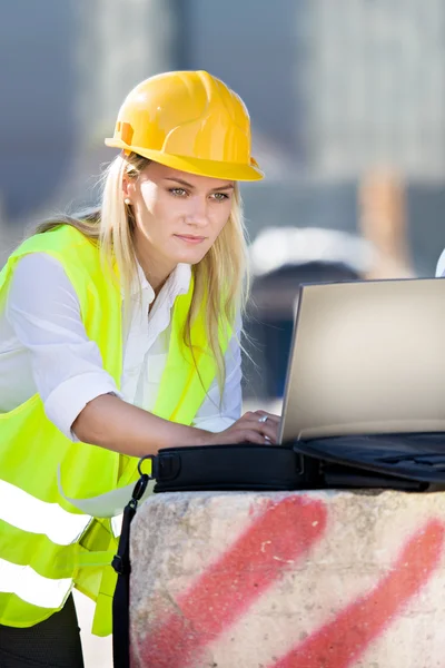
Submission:
<svg viewBox="0 0 445 668">
<path fill-rule="evenodd" d="M 150 163 L 125 183 L 136 218 L 136 250 L 166 276 L 178 263 L 197 264 L 226 225 L 235 183 Z"/>
</svg>

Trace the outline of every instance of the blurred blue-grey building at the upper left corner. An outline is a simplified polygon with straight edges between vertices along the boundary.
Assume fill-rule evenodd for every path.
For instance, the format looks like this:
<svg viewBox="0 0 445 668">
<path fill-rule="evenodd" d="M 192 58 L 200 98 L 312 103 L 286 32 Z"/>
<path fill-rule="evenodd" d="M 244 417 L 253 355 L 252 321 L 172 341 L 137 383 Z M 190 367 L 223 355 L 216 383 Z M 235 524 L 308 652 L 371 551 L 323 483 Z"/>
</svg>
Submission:
<svg viewBox="0 0 445 668">
<path fill-rule="evenodd" d="M 0 212 L 44 206 L 69 173 L 78 139 L 76 1 L 2 3 L 0 20 Z"/>
</svg>

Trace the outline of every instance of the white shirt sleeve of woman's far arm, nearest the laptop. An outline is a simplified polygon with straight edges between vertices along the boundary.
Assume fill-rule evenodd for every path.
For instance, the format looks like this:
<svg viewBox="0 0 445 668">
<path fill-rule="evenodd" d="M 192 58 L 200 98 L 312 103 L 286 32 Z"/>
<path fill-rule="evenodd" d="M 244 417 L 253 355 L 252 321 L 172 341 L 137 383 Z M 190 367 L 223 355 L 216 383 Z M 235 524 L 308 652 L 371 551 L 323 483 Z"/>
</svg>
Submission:
<svg viewBox="0 0 445 668">
<path fill-rule="evenodd" d="M 231 337 L 225 355 L 226 383 L 222 401 L 218 382 L 210 385 L 206 399 L 196 414 L 194 426 L 210 432 L 228 429 L 241 416 L 241 350 L 239 345 L 241 323 L 238 321 L 236 334 Z"/>
</svg>

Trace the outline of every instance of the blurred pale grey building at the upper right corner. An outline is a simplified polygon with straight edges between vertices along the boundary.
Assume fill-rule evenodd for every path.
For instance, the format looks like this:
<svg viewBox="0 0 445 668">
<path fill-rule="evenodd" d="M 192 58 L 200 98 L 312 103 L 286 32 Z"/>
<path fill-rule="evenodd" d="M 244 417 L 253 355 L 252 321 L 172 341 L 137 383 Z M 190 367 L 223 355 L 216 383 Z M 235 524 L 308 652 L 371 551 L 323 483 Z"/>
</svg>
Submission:
<svg viewBox="0 0 445 668">
<path fill-rule="evenodd" d="M 312 0 L 297 86 L 312 170 L 355 178 L 390 166 L 445 175 L 445 2 Z"/>
</svg>

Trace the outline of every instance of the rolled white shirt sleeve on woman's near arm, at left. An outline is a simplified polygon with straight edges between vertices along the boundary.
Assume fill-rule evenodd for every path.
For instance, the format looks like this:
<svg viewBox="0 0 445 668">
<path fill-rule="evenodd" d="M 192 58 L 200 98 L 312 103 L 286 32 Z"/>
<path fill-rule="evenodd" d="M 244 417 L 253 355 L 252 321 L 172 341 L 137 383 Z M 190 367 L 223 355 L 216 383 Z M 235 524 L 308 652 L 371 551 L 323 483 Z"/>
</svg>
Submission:
<svg viewBox="0 0 445 668">
<path fill-rule="evenodd" d="M 119 395 L 87 336 L 76 291 L 52 256 L 22 257 L 12 275 L 6 317 L 28 351 L 37 392 L 49 420 L 70 440 L 76 418 L 101 394 Z"/>
</svg>

